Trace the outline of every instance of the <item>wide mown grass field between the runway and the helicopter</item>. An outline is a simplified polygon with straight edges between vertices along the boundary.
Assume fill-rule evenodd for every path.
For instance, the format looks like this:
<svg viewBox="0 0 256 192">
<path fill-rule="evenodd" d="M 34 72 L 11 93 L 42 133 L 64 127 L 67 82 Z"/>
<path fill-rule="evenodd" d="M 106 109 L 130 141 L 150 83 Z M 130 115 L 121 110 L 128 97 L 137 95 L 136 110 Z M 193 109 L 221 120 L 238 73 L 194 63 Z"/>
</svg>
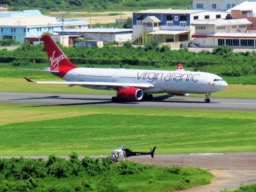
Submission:
<svg viewBox="0 0 256 192">
<path fill-rule="evenodd" d="M 114 148 L 102 145 L 141 142 L 149 145 L 132 150 L 256 150 L 256 112 L 10 104 L 0 110 L 1 155 L 108 154 Z"/>
</svg>

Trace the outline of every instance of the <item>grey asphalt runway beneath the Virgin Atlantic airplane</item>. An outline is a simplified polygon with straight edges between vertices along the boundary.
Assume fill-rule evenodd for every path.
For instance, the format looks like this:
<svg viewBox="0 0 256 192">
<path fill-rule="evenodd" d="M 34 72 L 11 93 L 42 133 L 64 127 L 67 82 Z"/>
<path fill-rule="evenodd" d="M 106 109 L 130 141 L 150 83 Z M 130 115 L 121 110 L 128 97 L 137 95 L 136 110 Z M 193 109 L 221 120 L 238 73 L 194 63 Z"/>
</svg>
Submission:
<svg viewBox="0 0 256 192">
<path fill-rule="evenodd" d="M 130 108 L 172 108 L 198 110 L 256 111 L 256 99 L 154 96 L 153 100 L 112 102 L 110 94 L 69 94 L 39 92 L 0 92 L 0 103 L 34 104 L 39 106 L 100 106 Z"/>
</svg>

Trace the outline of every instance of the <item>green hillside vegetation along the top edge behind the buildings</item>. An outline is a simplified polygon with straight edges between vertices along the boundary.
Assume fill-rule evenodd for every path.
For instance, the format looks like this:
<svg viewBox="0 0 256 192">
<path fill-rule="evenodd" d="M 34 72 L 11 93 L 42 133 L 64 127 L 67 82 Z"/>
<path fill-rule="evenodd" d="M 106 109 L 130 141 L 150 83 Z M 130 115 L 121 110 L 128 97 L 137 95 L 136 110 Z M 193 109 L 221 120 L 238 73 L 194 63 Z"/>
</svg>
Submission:
<svg viewBox="0 0 256 192">
<path fill-rule="evenodd" d="M 12 10 L 39 8 L 42 11 L 76 10 L 106 11 L 135 10 L 145 8 L 183 8 L 191 6 L 190 0 L 0 0 L 0 4 L 8 4 Z"/>
</svg>

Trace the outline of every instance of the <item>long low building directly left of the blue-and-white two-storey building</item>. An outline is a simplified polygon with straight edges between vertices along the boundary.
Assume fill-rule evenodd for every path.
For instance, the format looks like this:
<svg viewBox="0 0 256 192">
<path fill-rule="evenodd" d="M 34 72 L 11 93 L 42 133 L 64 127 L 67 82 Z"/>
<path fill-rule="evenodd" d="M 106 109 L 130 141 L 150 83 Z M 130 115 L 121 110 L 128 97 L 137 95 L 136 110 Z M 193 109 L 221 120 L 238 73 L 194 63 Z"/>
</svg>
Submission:
<svg viewBox="0 0 256 192">
<path fill-rule="evenodd" d="M 62 30 L 54 31 L 62 34 Z M 91 28 L 91 29 L 64 29 L 64 35 L 81 35 L 83 38 L 92 38 L 104 43 L 112 41 L 129 41 L 132 39 L 132 29 L 119 28 Z"/>
</svg>

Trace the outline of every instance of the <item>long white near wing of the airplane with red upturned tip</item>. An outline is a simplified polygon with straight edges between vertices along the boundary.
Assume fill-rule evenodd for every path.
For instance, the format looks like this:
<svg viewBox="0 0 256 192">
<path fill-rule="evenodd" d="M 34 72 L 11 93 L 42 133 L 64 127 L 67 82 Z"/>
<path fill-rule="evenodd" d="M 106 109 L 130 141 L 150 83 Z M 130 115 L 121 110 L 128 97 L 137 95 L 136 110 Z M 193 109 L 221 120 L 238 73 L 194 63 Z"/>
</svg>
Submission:
<svg viewBox="0 0 256 192">
<path fill-rule="evenodd" d="M 110 86 L 110 87 L 136 87 L 136 88 L 154 88 L 155 86 L 149 83 L 118 83 L 118 82 L 85 82 L 85 81 L 32 81 L 24 77 L 28 82 L 42 83 L 42 84 L 69 84 L 84 85 L 84 86 Z"/>
</svg>

